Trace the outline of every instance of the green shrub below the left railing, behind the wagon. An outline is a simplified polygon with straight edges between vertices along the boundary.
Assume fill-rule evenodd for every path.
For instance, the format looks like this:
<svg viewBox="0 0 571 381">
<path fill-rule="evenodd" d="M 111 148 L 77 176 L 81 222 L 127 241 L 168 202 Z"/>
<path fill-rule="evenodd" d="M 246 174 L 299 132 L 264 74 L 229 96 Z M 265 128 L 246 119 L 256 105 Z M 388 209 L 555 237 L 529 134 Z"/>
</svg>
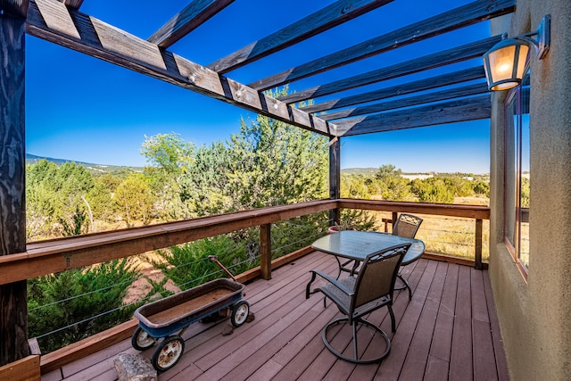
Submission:
<svg viewBox="0 0 571 381">
<path fill-rule="evenodd" d="M 29 279 L 29 336 L 52 352 L 131 319 L 122 299 L 137 277 L 123 259 Z"/>
</svg>

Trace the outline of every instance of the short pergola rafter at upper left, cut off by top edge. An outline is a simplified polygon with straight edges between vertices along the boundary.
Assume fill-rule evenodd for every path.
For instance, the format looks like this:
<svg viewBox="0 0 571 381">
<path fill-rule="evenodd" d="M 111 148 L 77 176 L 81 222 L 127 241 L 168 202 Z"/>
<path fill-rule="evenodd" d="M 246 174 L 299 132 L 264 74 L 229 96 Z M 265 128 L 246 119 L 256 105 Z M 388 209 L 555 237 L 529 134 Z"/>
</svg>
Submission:
<svg viewBox="0 0 571 381">
<path fill-rule="evenodd" d="M 148 41 L 166 49 L 232 3 L 234 0 L 194 0 L 154 32 Z"/>
</svg>

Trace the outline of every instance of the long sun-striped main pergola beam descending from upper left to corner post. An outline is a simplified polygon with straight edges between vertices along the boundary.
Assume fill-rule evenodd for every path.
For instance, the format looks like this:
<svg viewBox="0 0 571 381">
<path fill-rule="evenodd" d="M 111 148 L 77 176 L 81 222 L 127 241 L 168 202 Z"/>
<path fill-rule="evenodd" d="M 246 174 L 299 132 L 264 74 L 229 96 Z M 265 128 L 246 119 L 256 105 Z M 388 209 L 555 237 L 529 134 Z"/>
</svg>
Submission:
<svg viewBox="0 0 571 381">
<path fill-rule="evenodd" d="M 50 0 L 30 3 L 27 32 L 269 118 L 330 135 L 329 126 L 324 120 L 289 107 L 252 87 L 220 76 L 215 71 L 160 49 L 153 43 L 113 28 L 94 17 L 69 10 L 62 3 Z"/>
</svg>

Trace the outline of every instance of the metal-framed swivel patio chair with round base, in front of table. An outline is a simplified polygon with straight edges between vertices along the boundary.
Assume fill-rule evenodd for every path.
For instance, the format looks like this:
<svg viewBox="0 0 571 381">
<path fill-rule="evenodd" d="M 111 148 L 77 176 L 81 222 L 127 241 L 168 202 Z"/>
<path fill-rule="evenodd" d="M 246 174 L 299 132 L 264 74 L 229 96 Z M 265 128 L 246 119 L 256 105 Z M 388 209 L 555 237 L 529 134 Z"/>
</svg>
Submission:
<svg viewBox="0 0 571 381">
<path fill-rule="evenodd" d="M 385 334 L 385 331 L 368 320 L 363 319 L 363 316 L 371 311 L 387 306 L 391 316 L 391 329 L 393 332 L 396 331 L 393 313 L 394 282 L 401 265 L 402 257 L 407 253 L 409 247 L 410 244 L 399 244 L 389 247 L 383 252 L 368 255 L 363 261 L 356 277 L 335 279 L 318 269 L 311 270 L 311 280 L 305 291 L 306 299 L 309 299 L 310 294 L 323 293 L 327 298 L 331 299 L 331 301 L 337 305 L 339 311 L 345 315 L 343 318 L 329 322 L 321 333 L 323 343 L 327 349 L 338 358 L 354 363 L 367 364 L 383 360 L 391 351 L 391 340 L 388 335 Z M 326 283 L 310 291 L 310 286 L 316 280 L 317 276 L 325 279 Z M 349 353 L 343 353 L 351 352 L 350 345 L 339 345 L 339 342 L 343 342 L 343 340 L 337 340 L 336 346 L 338 348 L 335 348 L 332 344 L 333 340 L 327 336 L 330 328 L 337 325 L 343 325 L 345 329 L 347 327 L 352 328 L 351 357 Z M 361 344 L 360 349 L 358 347 L 358 331 L 360 338 L 364 338 L 365 341 Z M 363 334 L 367 334 L 370 331 L 372 331 L 372 335 L 363 337 Z M 380 337 L 384 339 L 381 341 L 381 344 L 373 341 L 376 335 L 380 335 Z M 385 345 L 382 345 L 383 342 Z M 344 344 L 346 344 L 346 342 Z M 381 347 L 380 352 L 382 352 L 380 355 L 378 355 L 376 351 L 379 346 Z M 385 346 L 384 350 L 383 346 Z M 371 351 L 377 352 L 372 358 L 370 358 L 371 356 L 369 355 Z"/>
</svg>

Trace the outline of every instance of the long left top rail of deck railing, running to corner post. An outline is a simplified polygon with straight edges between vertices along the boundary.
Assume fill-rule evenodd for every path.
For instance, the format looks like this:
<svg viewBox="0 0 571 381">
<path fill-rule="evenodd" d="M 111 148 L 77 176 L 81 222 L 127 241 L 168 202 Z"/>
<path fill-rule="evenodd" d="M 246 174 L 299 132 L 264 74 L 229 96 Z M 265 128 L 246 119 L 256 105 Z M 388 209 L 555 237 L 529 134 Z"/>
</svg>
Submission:
<svg viewBox="0 0 571 381">
<path fill-rule="evenodd" d="M 28 244 L 14 261 L 0 258 L 0 284 L 146 253 L 336 207 L 320 200 Z"/>
</svg>

